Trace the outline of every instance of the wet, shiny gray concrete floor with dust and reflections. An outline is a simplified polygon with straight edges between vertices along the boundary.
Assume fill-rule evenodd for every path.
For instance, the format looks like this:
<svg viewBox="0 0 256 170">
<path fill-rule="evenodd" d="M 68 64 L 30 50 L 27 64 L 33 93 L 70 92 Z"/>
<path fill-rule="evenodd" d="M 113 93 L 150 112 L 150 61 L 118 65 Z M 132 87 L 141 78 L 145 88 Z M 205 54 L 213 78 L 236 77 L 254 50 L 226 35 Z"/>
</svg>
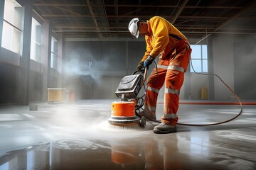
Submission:
<svg viewBox="0 0 256 170">
<path fill-rule="evenodd" d="M 0 107 L 0 170 L 4 169 L 256 169 L 256 106 L 230 123 L 178 125 L 157 135 L 154 125 L 107 123 L 112 101 Z M 157 106 L 157 118 L 163 105 Z M 239 106 L 182 104 L 180 123 L 215 123 Z"/>
</svg>

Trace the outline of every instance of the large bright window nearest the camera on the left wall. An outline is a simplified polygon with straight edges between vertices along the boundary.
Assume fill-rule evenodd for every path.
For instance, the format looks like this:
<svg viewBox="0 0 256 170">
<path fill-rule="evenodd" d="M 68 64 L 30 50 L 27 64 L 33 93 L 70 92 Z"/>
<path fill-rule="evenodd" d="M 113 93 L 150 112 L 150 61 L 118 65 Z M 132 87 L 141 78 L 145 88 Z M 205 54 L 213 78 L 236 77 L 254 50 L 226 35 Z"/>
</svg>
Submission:
<svg viewBox="0 0 256 170">
<path fill-rule="evenodd" d="M 21 5 L 14 0 L 4 2 L 4 23 L 1 47 L 20 52 L 21 44 Z"/>
</svg>

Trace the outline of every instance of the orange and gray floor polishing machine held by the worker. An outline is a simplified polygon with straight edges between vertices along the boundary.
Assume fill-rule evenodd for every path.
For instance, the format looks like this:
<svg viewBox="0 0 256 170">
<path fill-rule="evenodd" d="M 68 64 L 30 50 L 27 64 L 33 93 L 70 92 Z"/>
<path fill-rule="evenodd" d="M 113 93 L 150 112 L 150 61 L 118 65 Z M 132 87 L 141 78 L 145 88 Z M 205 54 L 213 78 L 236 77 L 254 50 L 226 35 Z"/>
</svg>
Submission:
<svg viewBox="0 0 256 170">
<path fill-rule="evenodd" d="M 135 71 L 132 75 L 122 78 L 115 91 L 115 94 L 121 100 L 112 102 L 111 117 L 108 119 L 111 125 L 139 124 L 142 128 L 145 127 L 146 118 L 139 110 L 144 104 L 144 98 L 143 96 L 137 97 L 137 95 L 146 81 L 146 72 L 147 69 L 144 69 L 141 74 L 136 74 L 137 71 Z"/>
</svg>

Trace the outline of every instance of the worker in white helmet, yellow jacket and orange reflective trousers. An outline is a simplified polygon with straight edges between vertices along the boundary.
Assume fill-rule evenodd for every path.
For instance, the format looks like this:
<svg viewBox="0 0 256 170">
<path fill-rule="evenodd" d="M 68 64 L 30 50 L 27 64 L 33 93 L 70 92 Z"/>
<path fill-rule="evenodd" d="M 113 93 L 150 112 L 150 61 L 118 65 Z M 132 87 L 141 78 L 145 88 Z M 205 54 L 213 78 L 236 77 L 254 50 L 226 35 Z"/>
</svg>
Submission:
<svg viewBox="0 0 256 170">
<path fill-rule="evenodd" d="M 157 67 L 147 79 L 144 114 L 149 120 L 156 120 L 156 101 L 159 90 L 165 84 L 164 114 L 161 116 L 161 123 L 153 131 L 176 132 L 179 93 L 192 52 L 189 42 L 185 35 L 160 16 L 154 16 L 149 21 L 133 18 L 128 29 L 136 38 L 145 36 L 146 52 L 137 71 L 149 68 L 159 58 Z"/>
</svg>

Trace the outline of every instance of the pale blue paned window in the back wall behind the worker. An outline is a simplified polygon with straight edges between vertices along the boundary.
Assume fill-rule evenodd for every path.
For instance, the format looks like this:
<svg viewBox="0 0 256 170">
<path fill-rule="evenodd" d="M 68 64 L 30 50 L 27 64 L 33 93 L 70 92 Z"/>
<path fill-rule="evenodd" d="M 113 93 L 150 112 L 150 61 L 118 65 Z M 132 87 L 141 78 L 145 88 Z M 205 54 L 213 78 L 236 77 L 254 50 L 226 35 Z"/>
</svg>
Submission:
<svg viewBox="0 0 256 170">
<path fill-rule="evenodd" d="M 191 48 L 191 72 L 208 72 L 207 45 L 191 45 Z"/>
</svg>

